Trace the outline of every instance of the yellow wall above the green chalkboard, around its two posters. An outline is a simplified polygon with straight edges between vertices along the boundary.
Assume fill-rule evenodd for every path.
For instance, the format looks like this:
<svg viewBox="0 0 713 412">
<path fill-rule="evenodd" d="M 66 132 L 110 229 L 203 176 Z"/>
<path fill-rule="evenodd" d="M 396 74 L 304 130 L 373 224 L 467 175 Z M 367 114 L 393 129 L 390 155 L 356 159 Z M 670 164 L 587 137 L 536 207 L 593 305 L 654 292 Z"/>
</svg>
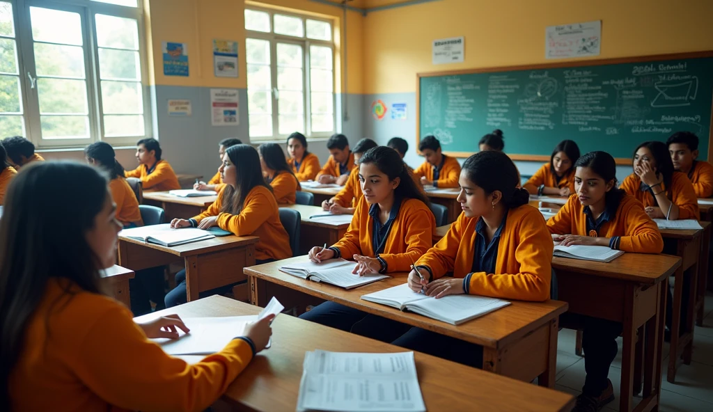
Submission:
<svg viewBox="0 0 713 412">
<path fill-rule="evenodd" d="M 416 73 L 547 63 L 545 27 L 602 21 L 597 58 L 713 50 L 712 0 L 441 0 L 364 19 L 364 93 L 416 91 Z M 431 42 L 465 36 L 463 63 Z"/>
</svg>

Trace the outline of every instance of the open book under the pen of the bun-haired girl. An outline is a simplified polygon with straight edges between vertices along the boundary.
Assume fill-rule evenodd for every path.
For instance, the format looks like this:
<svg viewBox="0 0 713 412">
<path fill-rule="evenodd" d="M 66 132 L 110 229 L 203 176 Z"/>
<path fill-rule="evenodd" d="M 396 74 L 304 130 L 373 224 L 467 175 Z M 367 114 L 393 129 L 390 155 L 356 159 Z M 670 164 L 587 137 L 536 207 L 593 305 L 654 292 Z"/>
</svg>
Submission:
<svg viewBox="0 0 713 412">
<path fill-rule="evenodd" d="M 412 311 L 451 325 L 465 323 L 510 304 L 510 302 L 501 299 L 470 294 L 450 294 L 436 299 L 412 291 L 405 283 L 379 292 L 365 294 L 361 299 L 385 304 L 401 311 Z"/>
</svg>

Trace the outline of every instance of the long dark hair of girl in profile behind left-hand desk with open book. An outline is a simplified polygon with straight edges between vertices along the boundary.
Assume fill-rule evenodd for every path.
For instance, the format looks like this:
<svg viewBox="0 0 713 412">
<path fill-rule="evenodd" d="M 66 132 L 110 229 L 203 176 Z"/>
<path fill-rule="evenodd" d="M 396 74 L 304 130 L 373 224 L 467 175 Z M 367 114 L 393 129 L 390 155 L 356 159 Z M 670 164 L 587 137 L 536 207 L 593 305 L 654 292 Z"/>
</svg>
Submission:
<svg viewBox="0 0 713 412">
<path fill-rule="evenodd" d="M 227 185 L 223 190 L 220 212 L 240 215 L 245 205 L 245 198 L 253 187 L 267 187 L 267 190 L 272 192 L 272 186 L 265 182 L 265 177 L 262 177 L 260 156 L 251 145 L 230 146 L 225 153 L 236 168 L 237 184 L 235 187 Z"/>
</svg>

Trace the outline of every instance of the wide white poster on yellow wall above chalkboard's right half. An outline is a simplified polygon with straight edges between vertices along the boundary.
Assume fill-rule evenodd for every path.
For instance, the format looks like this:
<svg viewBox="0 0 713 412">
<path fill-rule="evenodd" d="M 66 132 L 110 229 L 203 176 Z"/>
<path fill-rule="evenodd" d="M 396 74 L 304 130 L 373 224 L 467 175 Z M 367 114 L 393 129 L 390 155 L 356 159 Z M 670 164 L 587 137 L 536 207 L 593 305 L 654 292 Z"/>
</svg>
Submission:
<svg viewBox="0 0 713 412">
<path fill-rule="evenodd" d="M 599 56 L 602 21 L 549 26 L 545 34 L 545 58 Z"/>
</svg>

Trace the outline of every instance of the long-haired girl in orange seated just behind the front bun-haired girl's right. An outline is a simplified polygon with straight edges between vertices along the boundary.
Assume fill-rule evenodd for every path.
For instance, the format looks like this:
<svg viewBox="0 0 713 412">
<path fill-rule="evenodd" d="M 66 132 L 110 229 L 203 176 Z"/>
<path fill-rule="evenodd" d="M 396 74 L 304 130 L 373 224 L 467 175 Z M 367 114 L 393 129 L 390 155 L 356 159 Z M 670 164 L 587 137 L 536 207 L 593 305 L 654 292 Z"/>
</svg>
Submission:
<svg viewBox="0 0 713 412">
<path fill-rule="evenodd" d="M 545 163 L 523 187 L 530 195 L 569 196 L 575 192 L 574 164 L 580 156 L 573 140 L 562 140 Z"/>
</svg>

